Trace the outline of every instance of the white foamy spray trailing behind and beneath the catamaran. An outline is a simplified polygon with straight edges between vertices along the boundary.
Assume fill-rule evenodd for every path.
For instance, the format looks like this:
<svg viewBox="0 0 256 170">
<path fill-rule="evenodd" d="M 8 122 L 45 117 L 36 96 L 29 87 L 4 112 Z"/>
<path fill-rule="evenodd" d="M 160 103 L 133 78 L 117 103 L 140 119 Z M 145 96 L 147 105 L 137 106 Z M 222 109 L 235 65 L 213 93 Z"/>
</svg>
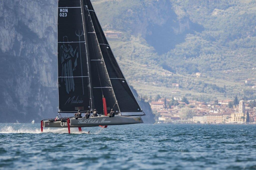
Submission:
<svg viewBox="0 0 256 170">
<path fill-rule="evenodd" d="M 89 134 L 99 134 L 102 131 L 102 129 L 98 130 L 95 133 L 89 133 Z M 88 134 L 87 130 L 83 130 L 82 132 L 79 132 L 77 128 L 70 128 L 70 133 L 72 133 L 72 134 Z M 16 129 L 12 126 L 4 126 L 4 127 L 0 128 L 0 134 L 8 134 L 8 133 L 40 134 L 41 129 L 40 128 L 28 128 L 28 127 L 20 127 L 18 129 Z M 44 132 L 42 132 L 42 133 L 65 134 L 65 133 L 68 133 L 68 128 L 44 128 Z"/>
</svg>

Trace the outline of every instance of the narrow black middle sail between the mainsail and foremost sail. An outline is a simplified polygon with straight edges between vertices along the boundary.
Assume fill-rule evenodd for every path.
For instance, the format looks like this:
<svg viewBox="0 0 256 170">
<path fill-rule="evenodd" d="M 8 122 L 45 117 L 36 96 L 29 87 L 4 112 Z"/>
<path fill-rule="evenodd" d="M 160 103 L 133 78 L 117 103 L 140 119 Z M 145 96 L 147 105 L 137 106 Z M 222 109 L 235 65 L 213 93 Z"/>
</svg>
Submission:
<svg viewBox="0 0 256 170">
<path fill-rule="evenodd" d="M 109 79 L 106 64 L 102 56 L 102 52 L 99 46 L 99 39 L 95 34 L 94 25 L 92 23 L 90 10 L 83 4 L 84 8 L 84 21 L 86 30 L 86 42 L 87 42 L 87 56 L 90 60 L 91 80 L 94 101 L 94 107 L 99 113 L 103 114 L 103 101 L 102 97 L 106 98 L 107 110 L 114 109 L 120 113 L 118 103 L 115 98 L 115 94 L 112 88 L 112 84 Z"/>
</svg>

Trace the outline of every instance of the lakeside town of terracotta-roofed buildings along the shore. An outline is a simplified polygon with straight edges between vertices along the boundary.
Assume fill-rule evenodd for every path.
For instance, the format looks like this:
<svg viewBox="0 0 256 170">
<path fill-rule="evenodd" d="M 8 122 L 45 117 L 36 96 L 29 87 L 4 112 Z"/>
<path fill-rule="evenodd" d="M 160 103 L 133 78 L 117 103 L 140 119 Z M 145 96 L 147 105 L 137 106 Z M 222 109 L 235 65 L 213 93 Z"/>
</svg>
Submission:
<svg viewBox="0 0 256 170">
<path fill-rule="evenodd" d="M 178 99 L 178 98 L 176 98 Z M 165 99 L 166 100 L 166 99 Z M 170 102 L 170 100 L 168 100 Z M 237 107 L 229 108 L 228 103 L 231 100 L 219 101 L 217 104 L 214 102 L 198 102 L 189 101 L 190 104 L 178 102 L 178 106 L 168 107 L 165 105 L 163 99 L 153 101 L 150 103 L 152 110 L 155 110 L 159 123 L 208 123 L 208 124 L 223 124 L 223 123 L 247 123 L 256 122 L 256 107 L 250 108 L 248 103 L 244 100 L 239 101 Z M 182 119 L 180 116 L 180 106 L 189 108 L 194 116 L 188 119 Z M 248 113 L 247 113 L 248 112 Z M 249 118 L 247 119 L 247 114 Z"/>
</svg>

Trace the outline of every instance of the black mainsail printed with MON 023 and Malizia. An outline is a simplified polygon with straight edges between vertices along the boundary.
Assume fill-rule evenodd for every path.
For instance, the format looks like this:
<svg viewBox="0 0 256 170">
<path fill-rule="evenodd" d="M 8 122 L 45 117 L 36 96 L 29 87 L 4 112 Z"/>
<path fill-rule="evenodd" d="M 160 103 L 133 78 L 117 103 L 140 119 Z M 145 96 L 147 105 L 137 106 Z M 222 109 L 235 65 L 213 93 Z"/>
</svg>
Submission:
<svg viewBox="0 0 256 170">
<path fill-rule="evenodd" d="M 59 112 L 92 107 L 80 0 L 58 1 Z"/>
</svg>

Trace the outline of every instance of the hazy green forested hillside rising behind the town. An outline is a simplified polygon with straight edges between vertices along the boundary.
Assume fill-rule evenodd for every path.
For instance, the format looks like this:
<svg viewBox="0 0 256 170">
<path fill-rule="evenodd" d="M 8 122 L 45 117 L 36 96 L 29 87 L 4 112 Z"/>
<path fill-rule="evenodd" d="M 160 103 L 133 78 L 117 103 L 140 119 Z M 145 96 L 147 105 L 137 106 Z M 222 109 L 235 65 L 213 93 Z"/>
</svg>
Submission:
<svg viewBox="0 0 256 170">
<path fill-rule="evenodd" d="M 139 95 L 256 97 L 255 1 L 94 0 L 93 5 L 105 31 L 122 32 L 108 39 Z M 166 76 L 168 71 L 174 74 Z"/>
</svg>

